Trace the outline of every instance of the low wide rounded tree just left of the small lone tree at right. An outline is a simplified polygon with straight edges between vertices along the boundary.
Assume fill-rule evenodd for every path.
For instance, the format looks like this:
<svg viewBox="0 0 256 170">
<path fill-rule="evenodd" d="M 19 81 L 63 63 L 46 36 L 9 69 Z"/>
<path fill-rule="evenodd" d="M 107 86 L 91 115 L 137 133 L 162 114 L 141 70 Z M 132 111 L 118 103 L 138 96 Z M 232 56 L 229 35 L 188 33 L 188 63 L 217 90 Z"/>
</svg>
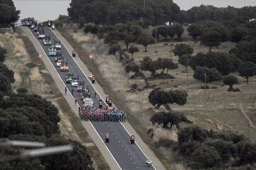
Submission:
<svg viewBox="0 0 256 170">
<path fill-rule="evenodd" d="M 204 82 L 205 75 L 206 83 L 222 79 L 220 72 L 218 72 L 215 68 L 208 69 L 206 67 L 196 67 L 193 78 Z"/>
</svg>

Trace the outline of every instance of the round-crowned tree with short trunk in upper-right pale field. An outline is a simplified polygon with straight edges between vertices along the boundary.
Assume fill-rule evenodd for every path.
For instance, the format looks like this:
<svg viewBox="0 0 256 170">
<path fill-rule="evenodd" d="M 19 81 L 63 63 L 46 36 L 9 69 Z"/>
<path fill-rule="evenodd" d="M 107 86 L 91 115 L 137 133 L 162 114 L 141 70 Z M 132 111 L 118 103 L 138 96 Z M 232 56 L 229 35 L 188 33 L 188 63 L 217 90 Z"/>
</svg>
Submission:
<svg viewBox="0 0 256 170">
<path fill-rule="evenodd" d="M 220 45 L 220 34 L 216 31 L 208 31 L 201 35 L 201 43 L 209 47 L 209 52 L 212 47 Z"/>
</svg>

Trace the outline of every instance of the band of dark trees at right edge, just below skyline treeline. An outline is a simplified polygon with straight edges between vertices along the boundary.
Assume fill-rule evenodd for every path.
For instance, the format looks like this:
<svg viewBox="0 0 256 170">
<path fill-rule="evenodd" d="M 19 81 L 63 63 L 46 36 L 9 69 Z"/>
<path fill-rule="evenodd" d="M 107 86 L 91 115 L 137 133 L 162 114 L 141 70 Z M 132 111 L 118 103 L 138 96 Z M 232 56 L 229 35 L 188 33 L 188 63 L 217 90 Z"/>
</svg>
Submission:
<svg viewBox="0 0 256 170">
<path fill-rule="evenodd" d="M 198 40 L 200 37 L 201 44 L 209 47 L 218 47 L 221 42 L 235 42 L 242 40 L 255 39 L 256 21 L 246 21 L 245 23 L 218 23 L 215 21 L 205 21 L 203 23 L 193 23 L 188 26 L 188 35 L 191 35 L 193 40 Z M 245 46 L 247 44 L 242 44 Z"/>
</svg>

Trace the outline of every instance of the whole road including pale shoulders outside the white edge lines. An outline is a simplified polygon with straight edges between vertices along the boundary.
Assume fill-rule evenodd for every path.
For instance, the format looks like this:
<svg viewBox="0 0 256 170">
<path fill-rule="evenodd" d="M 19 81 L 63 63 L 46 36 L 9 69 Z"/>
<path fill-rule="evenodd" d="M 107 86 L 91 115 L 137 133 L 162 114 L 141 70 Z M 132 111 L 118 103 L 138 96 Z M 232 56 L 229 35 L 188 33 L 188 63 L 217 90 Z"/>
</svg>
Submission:
<svg viewBox="0 0 256 170">
<path fill-rule="evenodd" d="M 24 30 L 24 28 L 23 28 L 23 30 Z M 45 30 L 46 30 L 46 35 L 50 35 L 51 40 L 58 39 L 56 37 L 55 33 L 53 33 L 52 30 L 50 30 L 50 28 L 45 28 Z M 32 31 L 31 31 L 31 33 L 36 38 L 35 33 L 33 33 Z M 41 48 L 47 54 L 48 46 L 43 45 L 43 43 L 42 43 L 43 40 L 37 39 L 37 41 L 41 44 Z M 36 46 L 35 42 L 33 44 Z M 37 45 L 39 45 L 39 44 L 37 44 Z M 78 65 L 78 62 L 76 62 L 77 59 L 74 60 L 74 58 L 71 57 L 70 52 L 65 47 L 65 45 L 61 44 L 61 46 L 62 46 L 61 52 L 62 52 L 62 55 L 65 57 L 65 60 L 68 62 L 69 71 L 75 75 L 78 75 L 78 77 L 80 77 L 80 80 L 85 81 L 85 84 L 87 84 L 90 88 L 91 94 L 93 94 L 93 91 L 95 91 L 95 87 L 92 86 L 92 84 L 90 84 L 90 81 L 85 76 L 85 72 L 83 72 L 80 65 Z M 38 47 L 37 47 L 37 49 L 38 49 Z M 60 72 L 60 69 L 55 66 L 55 61 L 54 61 L 55 57 L 48 57 L 48 60 L 51 62 L 52 66 L 55 67 L 55 72 L 58 72 L 60 79 L 62 79 L 62 81 L 65 82 L 65 74 L 67 72 Z M 68 88 L 68 91 L 71 91 L 71 88 L 72 88 L 71 85 L 66 84 L 66 86 Z M 98 86 L 97 83 L 95 84 L 95 86 Z M 64 90 L 64 86 L 63 86 L 63 90 Z M 101 93 L 102 92 L 100 91 L 99 94 L 101 94 Z M 73 96 L 75 98 L 80 99 L 80 96 L 76 91 L 74 91 Z M 96 97 L 94 97 L 92 95 L 92 99 L 95 103 L 95 106 L 97 106 L 97 103 L 100 100 L 100 95 L 97 95 Z M 105 98 L 102 98 L 102 100 L 105 101 Z M 78 100 L 78 103 L 80 106 L 82 105 L 82 101 Z M 82 124 L 85 125 L 85 123 L 82 123 Z M 92 137 L 92 140 L 94 140 L 96 145 L 97 144 L 99 145 L 100 142 L 103 142 L 105 140 L 105 134 L 107 132 L 110 134 L 110 143 L 107 143 L 104 145 L 105 145 L 105 147 L 107 147 L 107 150 L 110 152 L 109 155 L 114 157 L 113 163 L 117 164 L 117 166 L 114 166 L 114 168 L 112 168 L 112 169 L 117 169 L 117 167 L 119 169 L 132 169 L 132 170 L 134 170 L 134 169 L 159 169 L 159 167 L 161 167 L 161 169 L 164 169 L 164 166 L 162 166 L 161 163 L 159 163 L 159 160 L 156 159 L 156 157 L 154 157 L 154 154 L 152 154 L 151 152 L 149 153 L 149 151 L 146 151 L 146 154 L 144 154 L 144 152 L 139 147 L 139 145 L 137 145 L 137 144 L 131 145 L 130 144 L 129 132 L 127 131 L 127 128 L 125 128 L 125 127 L 129 127 L 129 125 L 123 125 L 125 123 L 119 123 L 119 122 L 95 122 L 95 121 L 92 121 L 91 124 L 93 126 L 93 129 L 97 131 L 97 135 L 99 135 L 102 139 L 102 141 L 95 142 L 95 140 L 97 140 L 97 138 Z M 134 135 L 136 135 L 136 133 Z M 137 136 L 136 136 L 136 138 L 137 138 Z M 140 137 L 138 137 L 138 138 L 139 138 L 139 140 L 141 140 Z M 143 142 L 140 142 L 140 143 L 143 144 Z M 98 145 L 97 145 L 97 147 L 99 147 Z M 100 147 L 99 147 L 99 149 L 100 149 Z M 143 149 L 149 149 L 149 148 L 146 148 L 145 146 L 143 146 Z M 102 150 L 101 150 L 101 152 L 102 152 Z M 105 156 L 104 153 L 102 153 L 102 154 L 103 154 L 103 156 Z M 146 166 L 146 164 L 145 164 L 146 155 L 153 157 L 152 158 L 153 162 L 154 162 L 154 160 L 156 160 L 156 162 L 157 162 L 156 167 L 149 168 Z M 106 159 L 106 157 L 105 157 L 105 159 Z M 106 161 L 108 162 L 107 159 L 106 159 Z M 108 162 L 108 164 L 110 164 L 110 162 Z M 112 166 L 110 166 L 110 167 L 112 167 Z"/>
</svg>

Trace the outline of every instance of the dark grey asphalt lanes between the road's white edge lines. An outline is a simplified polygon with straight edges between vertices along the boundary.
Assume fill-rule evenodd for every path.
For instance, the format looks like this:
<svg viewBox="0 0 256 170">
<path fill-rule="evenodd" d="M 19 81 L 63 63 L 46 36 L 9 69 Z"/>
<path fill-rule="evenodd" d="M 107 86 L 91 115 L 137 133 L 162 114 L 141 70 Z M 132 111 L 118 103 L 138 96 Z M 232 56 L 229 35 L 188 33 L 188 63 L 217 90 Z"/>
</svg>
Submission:
<svg viewBox="0 0 256 170">
<path fill-rule="evenodd" d="M 44 28 L 46 31 L 46 35 L 49 35 L 52 42 L 55 39 L 58 39 L 55 34 L 50 30 L 50 28 Z M 33 35 L 36 37 L 36 33 L 31 30 Z M 37 37 L 36 37 L 37 38 Z M 43 50 L 48 55 L 48 46 L 43 45 L 43 40 L 38 40 L 41 43 Z M 100 96 L 97 95 L 94 97 L 95 89 L 90 84 L 90 81 L 85 77 L 82 70 L 73 60 L 73 57 L 70 56 L 68 50 L 61 44 L 61 53 L 64 57 L 65 62 L 68 62 L 68 69 L 69 72 L 77 75 L 80 80 L 85 81 L 85 84 L 89 86 L 91 98 L 94 101 L 94 105 L 98 106 Z M 56 67 L 55 57 L 49 57 L 50 62 L 52 62 L 53 66 L 57 70 L 58 74 L 60 75 L 61 79 L 65 82 L 65 75 L 68 72 L 60 72 L 60 68 Z M 86 75 L 88 76 L 88 75 Z M 97 80 L 96 80 L 97 83 Z M 71 84 L 66 84 L 68 91 L 71 91 L 72 87 Z M 63 88 L 64 90 L 64 88 Z M 79 93 L 74 88 L 73 96 L 78 98 L 78 104 L 82 106 L 82 101 L 80 101 Z M 105 98 L 102 98 L 105 101 Z M 74 101 L 75 102 L 75 101 Z M 119 122 L 96 122 L 92 121 L 92 125 L 94 126 L 97 133 L 100 135 L 103 141 L 105 141 L 105 134 L 109 133 L 110 135 L 110 143 L 106 143 L 107 148 L 112 153 L 114 159 L 118 162 L 119 166 L 122 169 L 129 169 L 129 170 L 136 170 L 136 169 L 154 169 L 154 167 L 146 166 L 146 156 L 142 152 L 141 149 L 137 145 L 132 145 L 129 142 L 129 134 L 124 129 L 121 123 Z M 136 138 L 136 137 L 135 137 Z"/>
</svg>

